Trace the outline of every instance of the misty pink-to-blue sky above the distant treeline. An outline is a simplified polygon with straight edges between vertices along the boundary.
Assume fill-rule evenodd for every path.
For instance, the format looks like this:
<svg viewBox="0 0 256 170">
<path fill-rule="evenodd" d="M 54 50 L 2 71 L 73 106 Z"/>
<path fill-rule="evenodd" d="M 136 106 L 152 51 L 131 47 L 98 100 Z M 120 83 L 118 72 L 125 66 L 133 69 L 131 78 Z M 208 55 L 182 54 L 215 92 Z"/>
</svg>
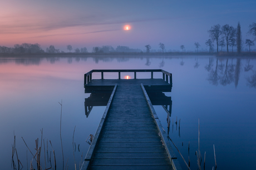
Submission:
<svg viewBox="0 0 256 170">
<path fill-rule="evenodd" d="M 102 45 L 124 45 L 130 48 L 195 50 L 199 42 L 206 49 L 207 30 L 214 24 L 233 25 L 240 21 L 243 40 L 249 24 L 256 22 L 256 1 L 32 1 L 0 0 L 0 45 L 38 43 L 45 50 L 50 45 L 68 51 Z M 124 25 L 131 30 L 124 30 Z M 216 48 L 216 47 L 215 47 Z"/>
</svg>

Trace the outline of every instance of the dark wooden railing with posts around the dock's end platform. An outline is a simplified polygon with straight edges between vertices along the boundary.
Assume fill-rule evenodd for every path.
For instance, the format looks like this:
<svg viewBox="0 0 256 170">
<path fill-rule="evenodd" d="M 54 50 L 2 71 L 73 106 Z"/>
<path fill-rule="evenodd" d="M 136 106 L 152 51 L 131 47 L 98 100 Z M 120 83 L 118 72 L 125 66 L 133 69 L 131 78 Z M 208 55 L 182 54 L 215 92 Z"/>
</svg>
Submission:
<svg viewBox="0 0 256 170">
<path fill-rule="evenodd" d="M 92 73 L 101 73 L 101 79 L 104 79 L 104 73 L 118 73 L 118 79 L 121 79 L 121 73 L 122 72 L 134 72 L 134 79 L 136 79 L 136 73 L 137 72 L 151 72 L 151 79 L 153 79 L 153 73 L 154 72 L 162 72 L 163 73 L 163 79 L 169 83 L 173 84 L 173 78 L 171 73 L 161 70 L 161 69 L 149 69 L 149 70 L 91 70 L 88 73 L 85 74 L 84 79 L 84 85 L 88 84 L 92 80 Z"/>
</svg>

